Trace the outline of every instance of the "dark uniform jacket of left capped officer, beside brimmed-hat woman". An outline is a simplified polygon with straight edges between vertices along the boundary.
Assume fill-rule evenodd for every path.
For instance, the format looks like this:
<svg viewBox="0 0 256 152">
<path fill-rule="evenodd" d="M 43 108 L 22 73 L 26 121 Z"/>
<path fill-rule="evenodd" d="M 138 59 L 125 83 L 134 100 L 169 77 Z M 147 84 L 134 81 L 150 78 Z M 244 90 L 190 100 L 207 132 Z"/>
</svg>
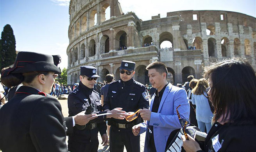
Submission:
<svg viewBox="0 0 256 152">
<path fill-rule="evenodd" d="M 75 116 L 81 111 L 86 111 L 87 108 L 92 104 L 94 106 L 94 112 L 97 114 L 106 113 L 106 111 L 102 111 L 102 106 L 100 103 L 100 96 L 98 92 L 93 89 L 90 89 L 79 83 L 78 87 L 76 87 L 69 95 L 68 95 L 68 113 L 69 116 Z M 92 138 L 97 138 L 98 131 L 100 131 L 101 136 L 106 134 L 106 115 L 99 116 L 93 120 L 90 120 L 88 124 L 86 124 L 85 129 L 79 129 L 78 127 L 73 127 L 73 133 L 68 134 L 69 140 L 73 140 L 76 142 L 88 143 Z M 92 123 L 97 123 L 97 127 L 95 129 L 88 129 L 87 126 L 90 126 Z"/>
</svg>

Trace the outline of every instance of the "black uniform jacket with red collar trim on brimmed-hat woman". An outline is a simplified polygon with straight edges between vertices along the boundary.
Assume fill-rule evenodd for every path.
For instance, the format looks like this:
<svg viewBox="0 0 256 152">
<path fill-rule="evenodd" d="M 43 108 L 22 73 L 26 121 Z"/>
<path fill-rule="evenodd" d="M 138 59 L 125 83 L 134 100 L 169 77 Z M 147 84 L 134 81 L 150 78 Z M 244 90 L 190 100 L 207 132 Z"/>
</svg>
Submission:
<svg viewBox="0 0 256 152">
<path fill-rule="evenodd" d="M 0 110 L 3 152 L 67 152 L 66 126 L 59 101 L 21 86 Z"/>
</svg>

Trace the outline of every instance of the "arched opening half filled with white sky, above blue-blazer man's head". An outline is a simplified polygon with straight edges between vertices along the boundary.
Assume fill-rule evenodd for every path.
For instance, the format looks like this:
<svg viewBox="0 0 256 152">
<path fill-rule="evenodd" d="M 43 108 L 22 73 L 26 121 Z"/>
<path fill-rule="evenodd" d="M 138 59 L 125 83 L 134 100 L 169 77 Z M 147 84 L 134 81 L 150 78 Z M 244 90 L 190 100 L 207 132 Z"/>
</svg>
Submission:
<svg viewBox="0 0 256 152">
<path fill-rule="evenodd" d="M 159 35 L 160 48 L 173 48 L 173 36 L 169 32 L 163 32 Z"/>
</svg>

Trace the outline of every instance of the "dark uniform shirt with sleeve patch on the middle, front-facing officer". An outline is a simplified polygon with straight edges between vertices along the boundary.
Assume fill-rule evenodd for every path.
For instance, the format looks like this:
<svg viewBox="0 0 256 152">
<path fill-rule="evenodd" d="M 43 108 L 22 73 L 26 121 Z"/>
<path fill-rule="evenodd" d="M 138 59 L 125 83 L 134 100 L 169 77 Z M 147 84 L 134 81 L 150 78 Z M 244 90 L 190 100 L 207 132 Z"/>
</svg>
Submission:
<svg viewBox="0 0 256 152">
<path fill-rule="evenodd" d="M 120 79 L 119 81 L 111 83 L 107 97 L 104 99 L 103 109 L 113 110 L 115 108 L 123 108 L 122 110 L 126 112 L 136 112 L 138 109 L 144 108 L 148 109 L 149 99 L 146 87 L 133 80 L 133 78 L 129 81 L 122 81 L 122 79 Z M 131 124 L 136 121 L 127 122 L 125 119 L 120 120 L 115 118 L 111 118 L 111 120 L 120 124 Z M 136 123 L 138 124 L 140 121 Z"/>
</svg>

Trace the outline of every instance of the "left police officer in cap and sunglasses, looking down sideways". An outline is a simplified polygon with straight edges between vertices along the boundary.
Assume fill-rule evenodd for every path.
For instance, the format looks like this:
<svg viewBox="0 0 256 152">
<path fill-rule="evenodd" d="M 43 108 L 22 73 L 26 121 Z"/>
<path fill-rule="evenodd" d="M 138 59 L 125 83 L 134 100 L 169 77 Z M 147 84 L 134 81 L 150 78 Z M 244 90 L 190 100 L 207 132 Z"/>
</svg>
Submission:
<svg viewBox="0 0 256 152">
<path fill-rule="evenodd" d="M 106 113 L 102 111 L 100 96 L 93 90 L 98 77 L 97 69 L 92 66 L 82 66 L 79 76 L 80 83 L 68 95 L 68 113 L 74 116 L 85 111 L 89 113 Z M 106 134 L 106 115 L 99 116 L 90 120 L 85 126 L 75 125 L 73 133 L 69 134 L 68 150 L 71 152 L 97 152 L 98 150 L 98 132 L 102 137 L 104 145 L 109 143 Z"/>
</svg>

